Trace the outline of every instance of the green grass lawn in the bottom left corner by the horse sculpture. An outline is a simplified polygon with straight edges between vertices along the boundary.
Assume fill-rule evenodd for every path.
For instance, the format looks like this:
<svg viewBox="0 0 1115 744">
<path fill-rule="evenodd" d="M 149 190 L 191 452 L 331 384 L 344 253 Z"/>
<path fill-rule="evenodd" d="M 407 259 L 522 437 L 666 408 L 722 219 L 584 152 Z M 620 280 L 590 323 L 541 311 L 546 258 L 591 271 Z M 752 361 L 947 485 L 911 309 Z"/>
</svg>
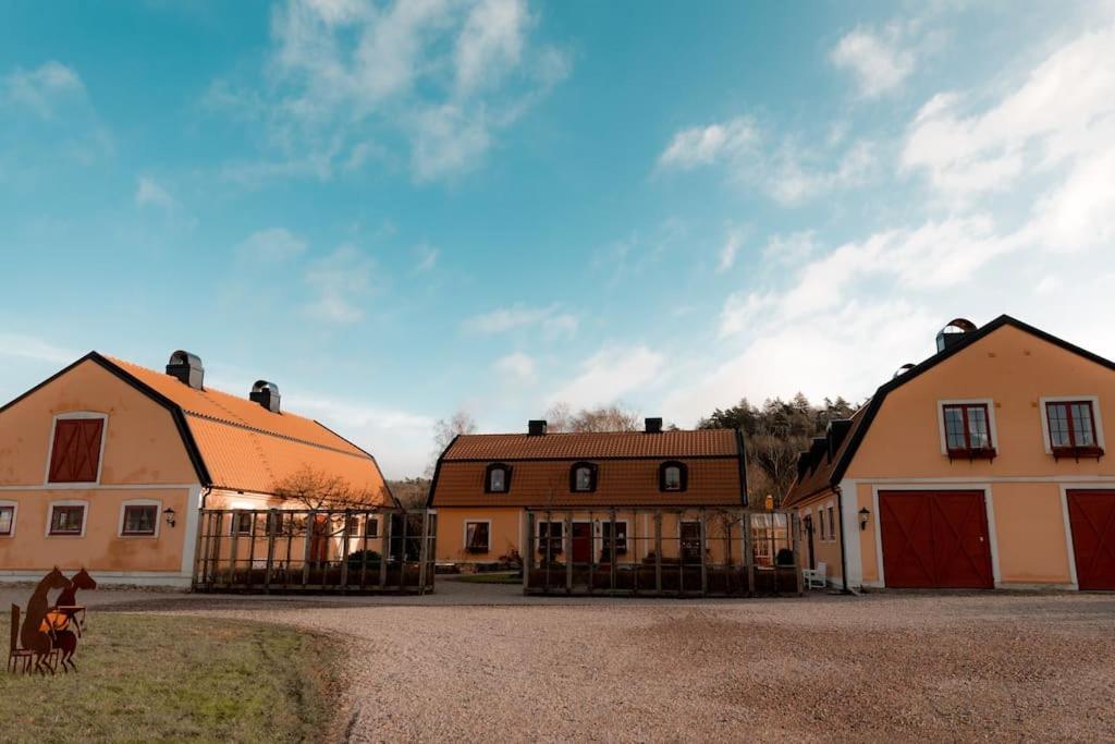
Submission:
<svg viewBox="0 0 1115 744">
<path fill-rule="evenodd" d="M 93 612 L 76 661 L 77 674 L 0 677 L 0 740 L 291 742 L 336 734 L 339 651 L 289 628 Z"/>
</svg>

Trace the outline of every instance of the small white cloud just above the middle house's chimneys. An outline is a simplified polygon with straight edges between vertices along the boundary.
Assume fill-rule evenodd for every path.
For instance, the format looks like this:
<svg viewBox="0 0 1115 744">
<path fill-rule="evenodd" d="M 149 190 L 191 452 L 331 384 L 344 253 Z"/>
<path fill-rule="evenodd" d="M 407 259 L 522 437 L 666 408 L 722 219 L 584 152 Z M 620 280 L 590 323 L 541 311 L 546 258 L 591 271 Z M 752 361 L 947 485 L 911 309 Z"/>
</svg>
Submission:
<svg viewBox="0 0 1115 744">
<path fill-rule="evenodd" d="M 646 346 L 603 349 L 581 364 L 576 377 L 553 390 L 546 405 L 605 405 L 659 381 L 665 367 L 666 357 Z"/>
</svg>

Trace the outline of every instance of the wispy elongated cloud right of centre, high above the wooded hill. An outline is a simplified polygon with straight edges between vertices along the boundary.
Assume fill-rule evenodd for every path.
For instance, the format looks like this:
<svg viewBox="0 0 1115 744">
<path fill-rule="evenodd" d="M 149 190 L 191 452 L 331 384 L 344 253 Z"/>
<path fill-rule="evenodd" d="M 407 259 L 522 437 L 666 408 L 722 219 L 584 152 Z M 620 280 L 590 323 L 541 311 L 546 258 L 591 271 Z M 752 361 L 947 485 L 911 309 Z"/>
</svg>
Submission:
<svg viewBox="0 0 1115 744">
<path fill-rule="evenodd" d="M 830 141 L 822 148 L 802 146 L 793 133 L 773 135 L 750 117 L 678 132 L 659 155 L 662 168 L 717 166 L 729 181 L 766 193 L 785 205 L 813 199 L 834 189 L 864 183 L 875 171 L 875 148 L 867 142 L 843 152 Z"/>
</svg>

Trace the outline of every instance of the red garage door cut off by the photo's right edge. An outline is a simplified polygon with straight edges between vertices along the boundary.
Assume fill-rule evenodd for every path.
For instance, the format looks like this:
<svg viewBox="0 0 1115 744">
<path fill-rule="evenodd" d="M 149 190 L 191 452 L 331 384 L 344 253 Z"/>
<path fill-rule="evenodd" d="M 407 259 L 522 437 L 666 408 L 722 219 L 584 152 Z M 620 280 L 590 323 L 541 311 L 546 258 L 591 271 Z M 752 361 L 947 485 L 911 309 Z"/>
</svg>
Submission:
<svg viewBox="0 0 1115 744">
<path fill-rule="evenodd" d="M 1069 491 L 1068 523 L 1080 589 L 1115 589 L 1115 491 Z"/>
</svg>

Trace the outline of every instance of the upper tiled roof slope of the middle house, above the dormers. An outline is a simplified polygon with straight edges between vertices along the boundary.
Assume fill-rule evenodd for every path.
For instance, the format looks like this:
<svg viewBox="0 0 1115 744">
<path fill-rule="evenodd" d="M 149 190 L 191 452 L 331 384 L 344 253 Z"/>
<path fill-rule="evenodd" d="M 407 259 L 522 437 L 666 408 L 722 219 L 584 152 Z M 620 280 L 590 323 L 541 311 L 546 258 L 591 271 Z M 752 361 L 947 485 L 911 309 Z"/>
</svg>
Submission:
<svg viewBox="0 0 1115 744">
<path fill-rule="evenodd" d="M 443 460 L 592 460 L 600 457 L 735 456 L 731 429 L 592 434 L 464 434 Z"/>
</svg>

